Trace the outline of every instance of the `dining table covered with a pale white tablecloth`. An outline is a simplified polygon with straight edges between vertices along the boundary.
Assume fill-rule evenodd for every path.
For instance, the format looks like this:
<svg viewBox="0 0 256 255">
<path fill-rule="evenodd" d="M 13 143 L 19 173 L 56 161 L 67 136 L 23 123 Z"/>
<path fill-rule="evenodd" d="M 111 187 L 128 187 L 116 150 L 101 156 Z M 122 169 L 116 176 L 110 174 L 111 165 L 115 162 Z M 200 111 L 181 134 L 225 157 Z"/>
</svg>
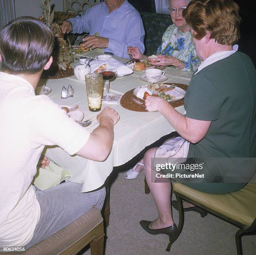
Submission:
<svg viewBox="0 0 256 255">
<path fill-rule="evenodd" d="M 95 57 L 99 53 L 89 51 L 84 54 L 74 55 L 74 63 L 72 67 L 79 64 L 80 56 Z M 128 59 L 123 59 L 117 56 L 113 58 L 125 63 Z M 190 71 L 182 71 L 174 67 L 167 66 L 165 76 L 166 82 L 175 82 L 181 84 L 189 84 L 193 75 Z M 116 77 L 110 81 L 110 93 L 124 94 L 131 89 L 149 84 L 142 81 L 140 76 L 144 73 L 141 71 L 133 71 L 132 74 Z M 91 112 L 88 108 L 87 93 L 85 82 L 78 80 L 74 75 L 62 79 L 46 79 L 41 80 L 41 84 L 46 84 L 46 87 L 51 89 L 47 95 L 56 104 L 61 106 L 78 105 L 79 110 L 84 113 L 84 120 L 93 119 L 92 124 L 84 127 L 92 132 L 99 123 L 95 118 L 99 112 Z M 72 85 L 74 89 L 74 97 L 61 99 L 61 88 Z M 120 105 L 103 102 L 104 107 L 113 107 L 120 115 L 120 120 L 114 126 L 114 142 L 113 148 L 105 161 L 92 161 L 78 155 L 69 155 L 66 151 L 58 146 L 46 146 L 44 154 L 46 157 L 54 161 L 56 164 L 71 171 L 72 177 L 70 181 L 83 184 L 81 192 L 92 191 L 102 186 L 114 166 L 121 166 L 130 161 L 134 156 L 141 152 L 146 146 L 154 143 L 159 138 L 167 135 L 174 130 L 174 127 L 165 119 L 160 112 L 137 112 L 127 110 Z M 184 107 L 176 107 L 176 110 L 184 114 Z M 50 125 L 50 123 L 49 123 Z M 67 134 L 69 135 L 69 134 Z"/>
</svg>

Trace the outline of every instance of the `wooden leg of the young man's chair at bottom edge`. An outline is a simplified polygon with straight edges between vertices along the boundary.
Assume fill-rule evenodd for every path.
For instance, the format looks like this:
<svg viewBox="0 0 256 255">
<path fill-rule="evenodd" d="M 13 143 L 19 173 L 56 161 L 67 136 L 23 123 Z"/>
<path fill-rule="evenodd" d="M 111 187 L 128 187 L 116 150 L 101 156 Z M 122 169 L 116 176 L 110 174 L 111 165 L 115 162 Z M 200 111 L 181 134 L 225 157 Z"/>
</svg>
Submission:
<svg viewBox="0 0 256 255">
<path fill-rule="evenodd" d="M 104 227 L 103 222 L 96 227 L 95 239 L 90 242 L 91 255 L 103 255 L 104 253 Z"/>
</svg>

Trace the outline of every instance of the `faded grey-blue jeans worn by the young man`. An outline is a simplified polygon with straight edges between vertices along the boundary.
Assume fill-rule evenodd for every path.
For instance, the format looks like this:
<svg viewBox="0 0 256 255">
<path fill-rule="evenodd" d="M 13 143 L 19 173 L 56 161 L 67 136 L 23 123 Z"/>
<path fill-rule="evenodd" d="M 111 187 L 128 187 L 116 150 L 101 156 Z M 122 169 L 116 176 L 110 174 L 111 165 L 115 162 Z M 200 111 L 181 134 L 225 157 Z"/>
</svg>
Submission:
<svg viewBox="0 0 256 255">
<path fill-rule="evenodd" d="M 36 191 L 41 216 L 34 235 L 25 245 L 25 249 L 61 230 L 93 206 L 102 209 L 106 195 L 105 188 L 81 193 L 82 186 L 83 184 L 67 181 L 50 189 Z"/>
</svg>

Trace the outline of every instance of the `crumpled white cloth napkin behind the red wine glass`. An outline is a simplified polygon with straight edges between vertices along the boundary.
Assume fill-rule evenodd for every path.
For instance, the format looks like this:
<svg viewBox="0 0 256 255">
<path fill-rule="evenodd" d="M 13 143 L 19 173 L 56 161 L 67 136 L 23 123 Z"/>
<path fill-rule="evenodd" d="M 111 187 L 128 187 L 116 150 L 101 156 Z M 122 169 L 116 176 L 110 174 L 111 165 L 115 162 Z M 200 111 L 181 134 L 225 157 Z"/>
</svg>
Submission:
<svg viewBox="0 0 256 255">
<path fill-rule="evenodd" d="M 125 64 L 123 64 L 122 62 L 111 58 L 108 59 L 106 61 L 101 61 L 101 60 L 93 60 L 90 62 L 90 66 L 91 66 L 91 72 L 95 72 L 95 70 L 97 70 L 100 66 L 102 66 L 103 64 L 107 65 L 107 68 L 113 68 L 118 72 L 118 76 L 123 76 L 123 75 L 127 75 L 127 74 L 131 74 L 133 72 L 132 69 L 130 69 L 129 67 L 125 66 Z"/>
</svg>

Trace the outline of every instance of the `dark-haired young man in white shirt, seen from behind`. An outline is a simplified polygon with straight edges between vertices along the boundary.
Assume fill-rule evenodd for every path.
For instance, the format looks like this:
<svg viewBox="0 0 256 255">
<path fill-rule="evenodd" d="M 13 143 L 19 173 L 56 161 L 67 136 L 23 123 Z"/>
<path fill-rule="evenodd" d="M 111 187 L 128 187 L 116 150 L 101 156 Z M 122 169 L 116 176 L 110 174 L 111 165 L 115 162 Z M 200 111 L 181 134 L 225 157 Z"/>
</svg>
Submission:
<svg viewBox="0 0 256 255">
<path fill-rule="evenodd" d="M 31 247 L 104 202 L 105 189 L 81 193 L 82 184 L 66 182 L 35 191 L 31 184 L 45 145 L 104 161 L 119 120 L 106 107 L 90 133 L 49 97 L 35 96 L 43 70 L 51 66 L 53 43 L 51 30 L 32 17 L 17 18 L 0 32 L 0 251 Z"/>
</svg>

